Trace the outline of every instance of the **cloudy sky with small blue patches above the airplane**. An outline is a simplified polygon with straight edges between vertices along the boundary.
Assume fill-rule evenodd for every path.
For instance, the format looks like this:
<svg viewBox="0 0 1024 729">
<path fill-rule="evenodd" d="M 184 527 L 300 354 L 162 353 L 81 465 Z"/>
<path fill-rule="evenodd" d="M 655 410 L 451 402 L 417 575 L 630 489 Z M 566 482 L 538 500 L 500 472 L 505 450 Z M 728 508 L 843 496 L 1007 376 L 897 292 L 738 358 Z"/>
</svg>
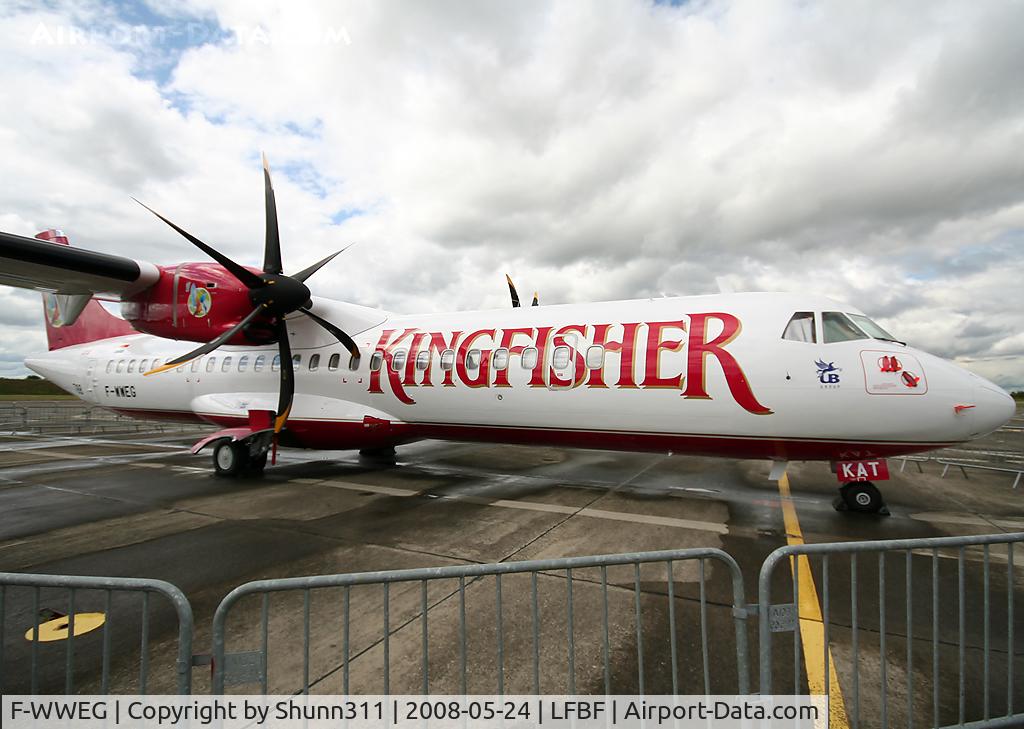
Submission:
<svg viewBox="0 0 1024 729">
<path fill-rule="evenodd" d="M 814 291 L 1024 389 L 1024 4 L 0 6 L 0 229 L 396 311 Z M 0 291 L 0 375 L 45 349 Z"/>
</svg>

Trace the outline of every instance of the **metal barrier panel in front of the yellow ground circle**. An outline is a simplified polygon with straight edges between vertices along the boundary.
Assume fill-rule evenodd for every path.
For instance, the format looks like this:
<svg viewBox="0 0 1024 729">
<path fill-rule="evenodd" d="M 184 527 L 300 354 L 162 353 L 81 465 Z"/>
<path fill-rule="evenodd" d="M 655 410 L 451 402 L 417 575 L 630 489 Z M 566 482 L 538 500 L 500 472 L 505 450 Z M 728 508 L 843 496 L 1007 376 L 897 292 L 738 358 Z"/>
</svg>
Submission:
<svg viewBox="0 0 1024 729">
<path fill-rule="evenodd" d="M 174 649 L 154 630 L 169 619 Z M 170 583 L 0 572 L 0 694 L 188 694 L 191 642 L 191 606 Z"/>
</svg>

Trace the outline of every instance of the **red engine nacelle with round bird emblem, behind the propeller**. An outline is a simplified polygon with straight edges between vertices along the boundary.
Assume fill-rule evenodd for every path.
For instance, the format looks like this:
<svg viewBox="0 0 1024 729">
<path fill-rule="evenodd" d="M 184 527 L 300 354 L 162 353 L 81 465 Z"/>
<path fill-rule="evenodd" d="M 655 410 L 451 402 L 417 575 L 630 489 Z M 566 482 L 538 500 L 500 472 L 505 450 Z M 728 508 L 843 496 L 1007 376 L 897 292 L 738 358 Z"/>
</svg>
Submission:
<svg viewBox="0 0 1024 729">
<path fill-rule="evenodd" d="M 191 342 L 219 337 L 252 310 L 249 290 L 223 266 L 204 262 L 160 266 L 154 286 L 121 304 L 121 314 L 139 332 Z M 265 344 L 272 339 L 272 321 L 257 318 L 228 344 Z"/>
</svg>

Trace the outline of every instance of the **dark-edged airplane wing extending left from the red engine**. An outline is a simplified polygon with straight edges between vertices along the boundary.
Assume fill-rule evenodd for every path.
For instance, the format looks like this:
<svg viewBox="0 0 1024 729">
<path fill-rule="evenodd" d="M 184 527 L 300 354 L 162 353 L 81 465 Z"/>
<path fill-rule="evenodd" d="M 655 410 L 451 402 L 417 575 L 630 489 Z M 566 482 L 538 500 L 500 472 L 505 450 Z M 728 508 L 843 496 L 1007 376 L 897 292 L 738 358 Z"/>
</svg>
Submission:
<svg viewBox="0 0 1024 729">
<path fill-rule="evenodd" d="M 153 263 L 71 248 L 62 233 L 47 232 L 51 240 L 0 231 L 0 285 L 54 294 L 122 298 L 160 278 L 160 270 Z"/>
</svg>

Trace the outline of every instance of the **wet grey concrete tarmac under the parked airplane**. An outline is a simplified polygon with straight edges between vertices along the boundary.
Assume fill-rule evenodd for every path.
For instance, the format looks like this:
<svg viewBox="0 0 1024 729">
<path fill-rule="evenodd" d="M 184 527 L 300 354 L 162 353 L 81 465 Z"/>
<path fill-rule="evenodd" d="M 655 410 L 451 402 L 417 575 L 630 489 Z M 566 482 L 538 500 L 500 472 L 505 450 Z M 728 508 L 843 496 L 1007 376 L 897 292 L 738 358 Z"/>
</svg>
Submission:
<svg viewBox="0 0 1024 729">
<path fill-rule="evenodd" d="M 1022 424 L 1012 421 L 986 439 L 931 456 L 1024 468 Z M 194 652 L 207 653 L 217 604 L 253 580 L 715 547 L 736 560 L 745 601 L 753 603 L 765 557 L 795 538 L 766 462 L 425 441 L 400 447 L 394 465 L 367 462 L 350 452 L 286 451 L 264 475 L 226 480 L 212 475 L 208 456 L 187 454 L 194 439 L 188 433 L 145 430 L 0 436 L 0 570 L 170 582 L 195 610 Z M 892 512 L 882 517 L 837 512 L 838 483 L 827 466 L 791 464 L 792 504 L 802 539 L 825 543 L 1024 531 L 1024 484 L 1014 490 L 1013 473 L 968 470 L 965 478 L 951 468 L 942 478 L 943 466 L 935 461 L 910 461 L 902 471 L 900 465 L 890 461 L 893 478 L 879 483 Z M 1022 552 L 1016 550 L 1017 565 L 1024 563 Z M 834 557 L 827 575 L 821 560 L 812 560 L 807 578 L 825 614 L 829 649 L 824 650 L 821 623 L 809 619 L 802 607 L 807 625 L 801 620 L 800 630 L 774 635 L 774 691 L 806 693 L 820 685 L 821 659 L 827 654 L 836 676 L 824 683 L 842 693 L 850 726 L 879 726 L 883 717 L 902 726 L 908 713 L 931 725 L 936 705 L 941 723 L 955 722 L 962 695 L 968 720 L 983 716 L 986 697 L 993 716 L 1006 711 L 1008 698 L 1024 705 L 1024 570 L 1011 571 L 1008 561 L 1005 546 L 987 552 L 971 548 L 963 555 L 898 553 L 881 565 L 877 556 L 862 555 L 855 569 L 848 556 Z M 707 562 L 701 601 L 700 570 L 696 562 L 677 562 L 673 569 L 677 686 L 683 693 L 733 693 L 738 668 L 729 574 Z M 671 692 L 669 582 L 664 565 L 645 566 L 638 574 L 632 567 L 607 571 L 605 672 L 599 570 L 573 574 L 571 656 L 566 575 L 541 574 L 536 651 L 542 691 L 603 693 L 607 686 L 613 693 L 632 693 L 642 676 L 647 692 Z M 793 583 L 784 561 L 774 574 L 773 601 L 793 602 Z M 806 591 L 805 583 L 798 583 Z M 470 692 L 489 693 L 501 681 L 506 692 L 532 691 L 530 590 L 528 575 L 503 578 L 499 631 L 494 577 L 467 581 L 464 655 L 457 581 L 431 583 L 425 593 L 427 687 L 457 692 L 465 681 Z M 391 586 L 384 641 L 382 587 L 352 588 L 346 642 L 343 591 L 312 593 L 306 664 L 302 595 L 275 594 L 267 605 L 268 689 L 299 690 L 308 675 L 316 692 L 341 692 L 346 686 L 353 693 L 380 692 L 386 674 L 390 691 L 421 691 L 423 597 L 419 583 Z M 101 593 L 80 592 L 76 609 L 102 610 L 102 601 Z M 140 607 L 137 597 L 117 596 L 108 611 L 109 686 L 115 691 L 141 688 Z M 42 590 L 37 604 L 32 590 L 4 591 L 0 690 L 33 688 L 34 644 L 24 634 L 33 626 L 34 612 L 47 608 L 66 612 L 67 593 Z M 148 610 L 145 689 L 172 692 L 174 614 L 158 597 L 151 598 Z M 259 598 L 234 608 L 229 651 L 260 648 L 261 610 Z M 757 620 L 746 624 L 756 689 Z M 101 688 L 101 633 L 74 641 L 76 692 Z M 37 643 L 35 649 L 35 688 L 65 690 L 67 641 Z M 933 681 L 936 658 L 938 680 Z M 196 692 L 208 690 L 208 669 L 197 668 L 194 677 Z M 258 683 L 248 682 L 231 690 L 258 689 Z"/>
</svg>

